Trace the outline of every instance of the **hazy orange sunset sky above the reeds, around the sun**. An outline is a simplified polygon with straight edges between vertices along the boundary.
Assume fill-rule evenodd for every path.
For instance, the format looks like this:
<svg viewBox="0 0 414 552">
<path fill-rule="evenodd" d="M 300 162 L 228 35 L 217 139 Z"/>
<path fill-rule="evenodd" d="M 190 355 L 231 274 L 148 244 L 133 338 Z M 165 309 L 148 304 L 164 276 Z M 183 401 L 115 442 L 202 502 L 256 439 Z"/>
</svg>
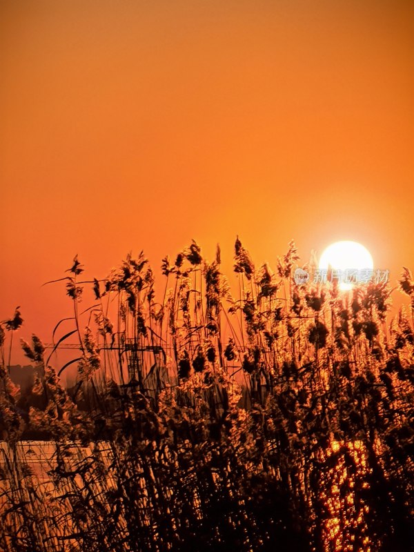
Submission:
<svg viewBox="0 0 414 552">
<path fill-rule="evenodd" d="M 414 3 L 0 2 L 0 319 L 50 341 L 72 257 L 294 238 L 414 268 Z M 14 357 L 16 362 L 21 360 Z"/>
</svg>

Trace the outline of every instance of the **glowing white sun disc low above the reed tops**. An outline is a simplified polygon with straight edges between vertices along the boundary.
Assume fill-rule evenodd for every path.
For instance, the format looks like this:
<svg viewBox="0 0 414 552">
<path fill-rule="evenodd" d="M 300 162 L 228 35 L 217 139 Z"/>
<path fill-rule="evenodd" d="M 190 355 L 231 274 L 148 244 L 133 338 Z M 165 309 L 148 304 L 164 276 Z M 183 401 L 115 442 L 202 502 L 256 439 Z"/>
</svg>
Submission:
<svg viewBox="0 0 414 552">
<path fill-rule="evenodd" d="M 373 270 L 374 262 L 371 253 L 362 244 L 357 242 L 335 242 L 328 246 L 319 259 L 319 270 L 328 268 L 340 271 L 344 270 Z M 339 289 L 350 290 L 353 284 L 342 282 Z"/>
</svg>

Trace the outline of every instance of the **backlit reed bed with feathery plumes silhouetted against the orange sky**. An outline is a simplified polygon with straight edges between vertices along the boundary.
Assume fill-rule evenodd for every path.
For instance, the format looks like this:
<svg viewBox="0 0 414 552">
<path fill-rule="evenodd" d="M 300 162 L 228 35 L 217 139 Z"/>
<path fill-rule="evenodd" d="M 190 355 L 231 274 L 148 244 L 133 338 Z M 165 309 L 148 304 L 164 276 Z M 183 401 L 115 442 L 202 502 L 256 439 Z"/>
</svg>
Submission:
<svg viewBox="0 0 414 552">
<path fill-rule="evenodd" d="M 165 257 L 160 295 L 143 253 L 92 282 L 75 258 L 54 348 L 22 343 L 26 410 L 7 371 L 21 315 L 4 321 L 0 549 L 413 550 L 411 273 L 389 320 L 388 284 L 297 286 L 298 262 L 291 242 L 256 268 L 237 238 L 234 298 L 219 248 Z"/>
</svg>

